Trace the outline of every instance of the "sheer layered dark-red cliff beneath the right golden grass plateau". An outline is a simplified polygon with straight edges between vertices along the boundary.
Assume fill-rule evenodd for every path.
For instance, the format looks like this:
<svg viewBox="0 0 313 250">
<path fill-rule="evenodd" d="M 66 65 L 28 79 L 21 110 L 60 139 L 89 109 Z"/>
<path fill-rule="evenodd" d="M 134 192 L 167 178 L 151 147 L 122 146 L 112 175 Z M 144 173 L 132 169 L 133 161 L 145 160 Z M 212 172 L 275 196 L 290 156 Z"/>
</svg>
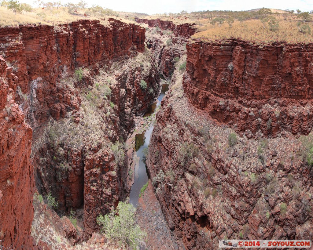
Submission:
<svg viewBox="0 0 313 250">
<path fill-rule="evenodd" d="M 192 105 L 248 138 L 313 127 L 312 44 L 239 40 L 187 44 L 184 91 Z"/>
</svg>

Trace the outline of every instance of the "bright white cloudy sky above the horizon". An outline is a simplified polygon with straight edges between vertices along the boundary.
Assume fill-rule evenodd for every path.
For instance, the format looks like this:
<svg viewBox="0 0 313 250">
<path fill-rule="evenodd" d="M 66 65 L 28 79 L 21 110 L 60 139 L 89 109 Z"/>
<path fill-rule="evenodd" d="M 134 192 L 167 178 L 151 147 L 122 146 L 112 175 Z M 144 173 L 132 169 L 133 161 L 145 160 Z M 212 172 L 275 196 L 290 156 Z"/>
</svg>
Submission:
<svg viewBox="0 0 313 250">
<path fill-rule="evenodd" d="M 54 2 L 56 0 L 44 0 L 44 2 Z M 61 0 L 66 2 L 77 3 L 80 0 Z M 20 2 L 33 3 L 33 0 L 20 0 Z M 249 10 L 256 8 L 275 8 L 290 9 L 301 11 L 313 10 L 312 0 L 85 0 L 89 6 L 99 4 L 102 7 L 110 8 L 115 11 L 141 12 L 147 14 L 172 12 L 177 13 L 182 10 Z"/>
</svg>

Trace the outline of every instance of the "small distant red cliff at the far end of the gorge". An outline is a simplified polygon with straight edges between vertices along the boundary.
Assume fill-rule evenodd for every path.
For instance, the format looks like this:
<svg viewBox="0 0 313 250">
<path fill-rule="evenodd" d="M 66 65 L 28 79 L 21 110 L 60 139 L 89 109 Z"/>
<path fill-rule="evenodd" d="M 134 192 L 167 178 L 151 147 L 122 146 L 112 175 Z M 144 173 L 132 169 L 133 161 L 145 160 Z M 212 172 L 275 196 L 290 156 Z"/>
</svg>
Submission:
<svg viewBox="0 0 313 250">
<path fill-rule="evenodd" d="M 182 37 L 191 37 L 196 31 L 195 23 L 182 23 L 175 24 L 173 21 L 165 21 L 161 19 L 146 19 L 146 18 L 138 18 L 136 19 L 138 23 L 146 23 L 149 27 L 160 27 L 162 30 L 169 29 L 171 30 L 175 36 Z"/>
</svg>

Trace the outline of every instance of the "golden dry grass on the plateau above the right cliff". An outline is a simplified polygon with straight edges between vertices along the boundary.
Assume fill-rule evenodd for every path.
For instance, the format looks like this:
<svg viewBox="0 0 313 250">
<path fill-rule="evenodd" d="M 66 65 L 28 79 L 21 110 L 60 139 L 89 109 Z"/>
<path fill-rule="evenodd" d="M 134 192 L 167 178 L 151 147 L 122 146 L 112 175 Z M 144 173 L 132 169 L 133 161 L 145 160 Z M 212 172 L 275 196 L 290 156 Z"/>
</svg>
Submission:
<svg viewBox="0 0 313 250">
<path fill-rule="evenodd" d="M 291 17 L 291 16 L 290 16 Z M 250 19 L 239 23 L 235 21 L 233 27 L 229 27 L 226 22 L 221 27 L 209 23 L 209 19 L 198 21 L 197 28 L 200 32 L 192 36 L 192 38 L 202 38 L 204 40 L 227 39 L 230 37 L 240 38 L 242 40 L 257 41 L 257 42 L 275 42 L 286 41 L 290 43 L 296 42 L 313 42 L 313 37 L 310 34 L 302 34 L 297 27 L 298 20 L 295 17 L 284 20 L 283 16 L 277 16 L 279 28 L 277 31 L 270 31 L 267 24 L 265 29 L 260 20 Z M 313 31 L 313 22 L 309 22 L 310 28 Z"/>
</svg>

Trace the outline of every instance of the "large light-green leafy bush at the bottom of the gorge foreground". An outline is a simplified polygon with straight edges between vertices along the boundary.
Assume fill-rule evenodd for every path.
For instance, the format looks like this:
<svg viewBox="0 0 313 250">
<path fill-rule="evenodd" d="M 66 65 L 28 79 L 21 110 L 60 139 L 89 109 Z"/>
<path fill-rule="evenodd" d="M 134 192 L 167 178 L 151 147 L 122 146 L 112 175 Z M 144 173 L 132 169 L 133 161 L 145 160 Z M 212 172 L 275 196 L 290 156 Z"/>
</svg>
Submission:
<svg viewBox="0 0 313 250">
<path fill-rule="evenodd" d="M 136 208 L 127 202 L 119 202 L 109 214 L 97 217 L 97 223 L 105 236 L 120 244 L 121 249 L 139 248 L 147 236 L 135 223 Z"/>
</svg>

